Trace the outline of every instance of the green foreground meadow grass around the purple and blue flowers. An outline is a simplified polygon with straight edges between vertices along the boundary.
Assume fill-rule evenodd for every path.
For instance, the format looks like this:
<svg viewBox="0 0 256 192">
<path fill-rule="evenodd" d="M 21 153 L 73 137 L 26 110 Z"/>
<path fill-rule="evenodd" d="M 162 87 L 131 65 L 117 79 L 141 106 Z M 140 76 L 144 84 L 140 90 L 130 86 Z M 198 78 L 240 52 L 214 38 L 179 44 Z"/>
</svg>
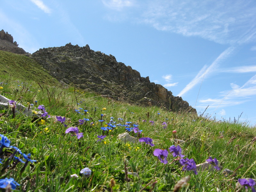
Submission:
<svg viewBox="0 0 256 192">
<path fill-rule="evenodd" d="M 38 81 L 41 79 L 38 78 Z M 20 148 L 22 153 L 31 153 L 31 159 L 36 160 L 35 163 L 28 163 L 21 172 L 24 164 L 18 163 L 11 169 L 14 162 L 8 161 L 13 148 L 4 148 L 0 154 L 5 166 L 9 165 L 4 169 L 4 164 L 0 164 L 0 179 L 14 178 L 20 184 L 16 191 L 173 191 L 174 185 L 185 176 L 190 176 L 190 180 L 180 191 L 217 191 L 217 188 L 219 191 L 236 191 L 238 178 L 256 179 L 255 127 L 239 122 L 215 122 L 195 114 L 167 112 L 158 107 L 131 105 L 85 90 L 74 90 L 74 87 L 63 89 L 57 85 L 39 85 L 36 80 L 28 81 L 25 76 L 3 75 L 0 83 L 3 87 L 1 95 L 26 107 L 37 101 L 37 105 L 30 108 L 37 110 L 38 105 L 44 105 L 51 117 L 65 116 L 65 124 L 68 125 L 64 127 L 53 117 L 45 119 L 43 124 L 42 118 L 22 114 L 13 118 L 11 108 L 1 110 L 0 133 L 8 137 L 12 146 Z M 81 114 L 83 110 L 88 110 L 88 113 Z M 104 114 L 102 118 L 105 120 L 102 124 L 98 121 L 101 114 Z M 115 124 L 128 121 L 132 125 L 138 124 L 143 130 L 139 137 L 152 138 L 155 146 L 117 140 L 118 134 L 126 131 L 124 126 L 104 132 L 106 138 L 96 142 L 97 136 L 103 134 L 100 128 L 110 121 L 110 117 L 114 117 Z M 83 118 L 90 121 L 79 125 L 78 120 Z M 119 121 L 118 118 L 124 120 Z M 153 125 L 150 120 L 154 121 Z M 165 129 L 163 122 L 167 123 Z M 78 140 L 76 136 L 66 134 L 65 130 L 71 126 L 77 126 L 84 137 Z M 177 131 L 175 135 L 173 130 Z M 133 131 L 129 134 L 137 136 Z M 234 172 L 228 177 L 217 170 L 199 171 L 197 175 L 193 171 L 184 172 L 179 161 L 175 160 L 177 157 L 170 152 L 168 164 L 161 163 L 153 155 L 154 150 L 169 151 L 168 148 L 175 144 L 174 138 L 186 141 L 180 144 L 185 158 L 193 158 L 196 164 L 200 164 L 209 156 L 216 157 L 223 169 Z M 21 158 L 19 154 L 16 156 Z M 80 173 L 85 167 L 92 170 L 88 178 Z M 137 175 L 126 175 L 125 169 Z M 78 178 L 71 177 L 75 173 Z"/>
</svg>

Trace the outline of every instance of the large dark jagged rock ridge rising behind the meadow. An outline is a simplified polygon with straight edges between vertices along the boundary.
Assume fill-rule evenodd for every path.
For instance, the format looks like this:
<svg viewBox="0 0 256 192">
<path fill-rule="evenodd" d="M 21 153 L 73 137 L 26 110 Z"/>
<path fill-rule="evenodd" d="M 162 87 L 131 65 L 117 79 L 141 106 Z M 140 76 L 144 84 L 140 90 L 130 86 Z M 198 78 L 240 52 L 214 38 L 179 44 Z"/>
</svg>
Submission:
<svg viewBox="0 0 256 192">
<path fill-rule="evenodd" d="M 71 43 L 61 47 L 39 49 L 31 55 L 50 75 L 66 84 L 76 84 L 116 100 L 147 106 L 162 106 L 170 111 L 196 110 L 181 97 L 160 84 L 141 77 L 140 73 L 113 55 L 93 51 L 89 45 Z"/>
</svg>

